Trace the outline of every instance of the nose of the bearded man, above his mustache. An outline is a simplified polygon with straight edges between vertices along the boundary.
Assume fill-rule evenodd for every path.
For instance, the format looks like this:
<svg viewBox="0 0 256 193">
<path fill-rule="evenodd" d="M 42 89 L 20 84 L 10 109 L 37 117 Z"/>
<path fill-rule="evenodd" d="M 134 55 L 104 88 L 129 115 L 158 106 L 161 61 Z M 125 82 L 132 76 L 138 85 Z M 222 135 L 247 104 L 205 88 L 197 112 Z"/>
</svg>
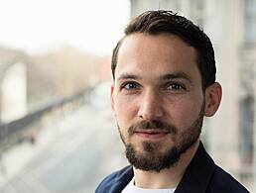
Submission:
<svg viewBox="0 0 256 193">
<path fill-rule="evenodd" d="M 140 100 L 138 117 L 144 120 L 159 120 L 163 115 L 163 101 L 159 93 L 145 92 Z"/>
</svg>

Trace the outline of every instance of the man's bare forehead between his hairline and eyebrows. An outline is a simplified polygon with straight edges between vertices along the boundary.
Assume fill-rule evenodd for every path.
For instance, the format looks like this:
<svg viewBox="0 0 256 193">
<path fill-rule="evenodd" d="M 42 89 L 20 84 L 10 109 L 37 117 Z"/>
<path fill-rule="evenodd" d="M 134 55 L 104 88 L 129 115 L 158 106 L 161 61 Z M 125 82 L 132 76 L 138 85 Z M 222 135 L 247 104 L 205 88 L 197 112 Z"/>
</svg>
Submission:
<svg viewBox="0 0 256 193">
<path fill-rule="evenodd" d="M 118 51 L 116 78 L 123 73 L 157 78 L 175 72 L 197 75 L 199 78 L 196 50 L 179 37 L 133 34 L 123 40 Z"/>
</svg>

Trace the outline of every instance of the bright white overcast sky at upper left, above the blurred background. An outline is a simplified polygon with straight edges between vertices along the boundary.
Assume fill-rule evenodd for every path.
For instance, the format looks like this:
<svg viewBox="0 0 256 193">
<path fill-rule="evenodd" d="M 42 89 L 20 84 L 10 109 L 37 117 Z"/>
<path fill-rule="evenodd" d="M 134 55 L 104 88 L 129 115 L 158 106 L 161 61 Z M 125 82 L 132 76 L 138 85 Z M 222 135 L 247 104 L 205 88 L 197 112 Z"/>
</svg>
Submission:
<svg viewBox="0 0 256 193">
<path fill-rule="evenodd" d="M 129 17 L 129 0 L 0 0 L 0 46 L 109 54 Z"/>
</svg>

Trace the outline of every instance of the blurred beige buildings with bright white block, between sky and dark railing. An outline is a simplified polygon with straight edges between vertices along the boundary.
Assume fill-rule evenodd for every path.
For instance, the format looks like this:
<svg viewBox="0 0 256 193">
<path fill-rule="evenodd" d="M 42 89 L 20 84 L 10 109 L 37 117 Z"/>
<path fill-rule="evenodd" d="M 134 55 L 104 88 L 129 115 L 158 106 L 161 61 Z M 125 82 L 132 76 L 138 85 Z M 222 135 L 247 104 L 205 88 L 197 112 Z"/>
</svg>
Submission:
<svg viewBox="0 0 256 193">
<path fill-rule="evenodd" d="M 0 124 L 93 86 L 100 61 L 68 46 L 37 55 L 0 46 Z"/>
</svg>

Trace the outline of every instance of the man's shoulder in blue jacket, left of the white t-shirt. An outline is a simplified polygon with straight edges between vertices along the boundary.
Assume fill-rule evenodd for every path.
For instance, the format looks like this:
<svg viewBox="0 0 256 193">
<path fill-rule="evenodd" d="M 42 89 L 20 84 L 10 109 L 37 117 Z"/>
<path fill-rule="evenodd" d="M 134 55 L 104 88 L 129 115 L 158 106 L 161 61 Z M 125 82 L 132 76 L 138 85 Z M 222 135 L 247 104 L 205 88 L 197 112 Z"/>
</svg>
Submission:
<svg viewBox="0 0 256 193">
<path fill-rule="evenodd" d="M 98 185 L 95 193 L 118 192 L 130 182 L 132 177 L 132 166 L 126 166 L 106 176 Z"/>
</svg>

